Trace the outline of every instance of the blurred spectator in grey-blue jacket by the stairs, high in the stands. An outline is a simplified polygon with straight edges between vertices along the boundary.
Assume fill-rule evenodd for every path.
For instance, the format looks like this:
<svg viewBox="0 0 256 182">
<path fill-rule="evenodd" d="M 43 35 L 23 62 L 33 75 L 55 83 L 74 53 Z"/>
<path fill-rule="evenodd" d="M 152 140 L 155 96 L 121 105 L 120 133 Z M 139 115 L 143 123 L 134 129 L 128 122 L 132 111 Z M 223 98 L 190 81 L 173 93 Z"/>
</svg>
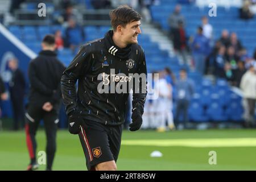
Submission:
<svg viewBox="0 0 256 182">
<path fill-rule="evenodd" d="M 174 13 L 172 13 L 168 18 L 168 24 L 170 26 L 170 34 L 173 39 L 176 30 L 179 28 L 179 22 L 182 22 L 183 26 L 185 23 L 184 16 L 180 14 L 181 6 L 176 5 Z"/>
</svg>

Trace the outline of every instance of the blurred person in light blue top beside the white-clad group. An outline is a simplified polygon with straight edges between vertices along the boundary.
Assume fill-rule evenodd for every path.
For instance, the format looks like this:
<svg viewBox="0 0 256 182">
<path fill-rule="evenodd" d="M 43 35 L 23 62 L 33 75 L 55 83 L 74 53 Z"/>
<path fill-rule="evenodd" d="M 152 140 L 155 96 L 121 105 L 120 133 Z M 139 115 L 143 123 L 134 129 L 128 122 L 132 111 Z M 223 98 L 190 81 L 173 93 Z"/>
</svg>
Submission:
<svg viewBox="0 0 256 182">
<path fill-rule="evenodd" d="M 187 77 L 185 69 L 180 70 L 180 78 L 176 83 L 176 122 L 180 121 L 180 114 L 183 113 L 183 123 L 185 128 L 188 123 L 188 107 L 193 96 L 193 82 Z M 177 123 L 175 124 L 177 126 Z M 182 125 L 181 125 L 182 126 Z"/>
</svg>

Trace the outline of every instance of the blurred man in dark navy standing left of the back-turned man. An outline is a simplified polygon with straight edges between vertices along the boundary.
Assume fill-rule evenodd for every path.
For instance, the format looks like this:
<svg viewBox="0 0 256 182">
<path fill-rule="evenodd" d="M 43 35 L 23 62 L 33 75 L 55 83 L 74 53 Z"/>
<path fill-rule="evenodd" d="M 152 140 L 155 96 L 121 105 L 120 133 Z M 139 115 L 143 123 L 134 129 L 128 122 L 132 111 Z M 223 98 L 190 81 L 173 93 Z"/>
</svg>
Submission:
<svg viewBox="0 0 256 182">
<path fill-rule="evenodd" d="M 13 105 L 13 130 L 24 128 L 24 96 L 26 89 L 26 81 L 22 71 L 18 68 L 18 60 L 16 58 L 9 61 L 12 77 L 9 82 L 11 104 Z"/>
</svg>

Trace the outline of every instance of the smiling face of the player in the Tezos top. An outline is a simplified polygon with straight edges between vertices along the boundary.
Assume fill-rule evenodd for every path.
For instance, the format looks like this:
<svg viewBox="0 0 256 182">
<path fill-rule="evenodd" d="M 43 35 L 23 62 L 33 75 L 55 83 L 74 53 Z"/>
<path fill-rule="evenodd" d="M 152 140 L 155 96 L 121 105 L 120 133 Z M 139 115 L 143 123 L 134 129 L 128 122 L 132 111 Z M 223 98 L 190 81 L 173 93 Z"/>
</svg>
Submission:
<svg viewBox="0 0 256 182">
<path fill-rule="evenodd" d="M 137 37 L 141 34 L 141 21 L 135 21 L 122 27 L 122 40 L 126 44 L 138 44 Z"/>
</svg>

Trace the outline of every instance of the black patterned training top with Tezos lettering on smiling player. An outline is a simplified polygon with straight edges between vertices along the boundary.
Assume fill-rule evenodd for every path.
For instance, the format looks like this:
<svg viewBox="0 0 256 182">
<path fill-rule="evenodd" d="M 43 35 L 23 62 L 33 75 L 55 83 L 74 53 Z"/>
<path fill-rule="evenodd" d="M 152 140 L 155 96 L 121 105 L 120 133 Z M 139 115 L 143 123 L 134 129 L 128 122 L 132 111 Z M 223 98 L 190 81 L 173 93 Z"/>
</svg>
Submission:
<svg viewBox="0 0 256 182">
<path fill-rule="evenodd" d="M 115 89 L 113 93 L 113 87 L 109 89 L 111 93 L 100 93 L 98 85 L 102 85 L 103 80 L 98 79 L 98 76 L 106 78 L 105 84 L 109 83 L 107 78 L 114 79 L 115 86 L 123 84 L 125 80 L 127 84 L 127 80 L 131 80 L 129 73 L 147 74 L 146 61 L 141 46 L 130 44 L 126 48 L 119 48 L 114 44 L 112 36 L 113 31 L 109 31 L 104 38 L 86 43 L 64 71 L 61 77 L 61 92 L 67 115 L 80 112 L 82 118 L 109 126 L 125 122 L 129 93 L 117 93 Z M 110 69 L 114 69 L 114 74 L 110 75 Z M 118 73 L 124 74 L 123 77 L 117 76 Z M 111 83 L 106 86 L 110 85 Z M 104 89 L 101 86 L 100 88 Z M 146 94 L 145 79 L 141 80 L 139 93 L 133 93 L 133 107 L 139 103 L 143 109 Z"/>
</svg>

